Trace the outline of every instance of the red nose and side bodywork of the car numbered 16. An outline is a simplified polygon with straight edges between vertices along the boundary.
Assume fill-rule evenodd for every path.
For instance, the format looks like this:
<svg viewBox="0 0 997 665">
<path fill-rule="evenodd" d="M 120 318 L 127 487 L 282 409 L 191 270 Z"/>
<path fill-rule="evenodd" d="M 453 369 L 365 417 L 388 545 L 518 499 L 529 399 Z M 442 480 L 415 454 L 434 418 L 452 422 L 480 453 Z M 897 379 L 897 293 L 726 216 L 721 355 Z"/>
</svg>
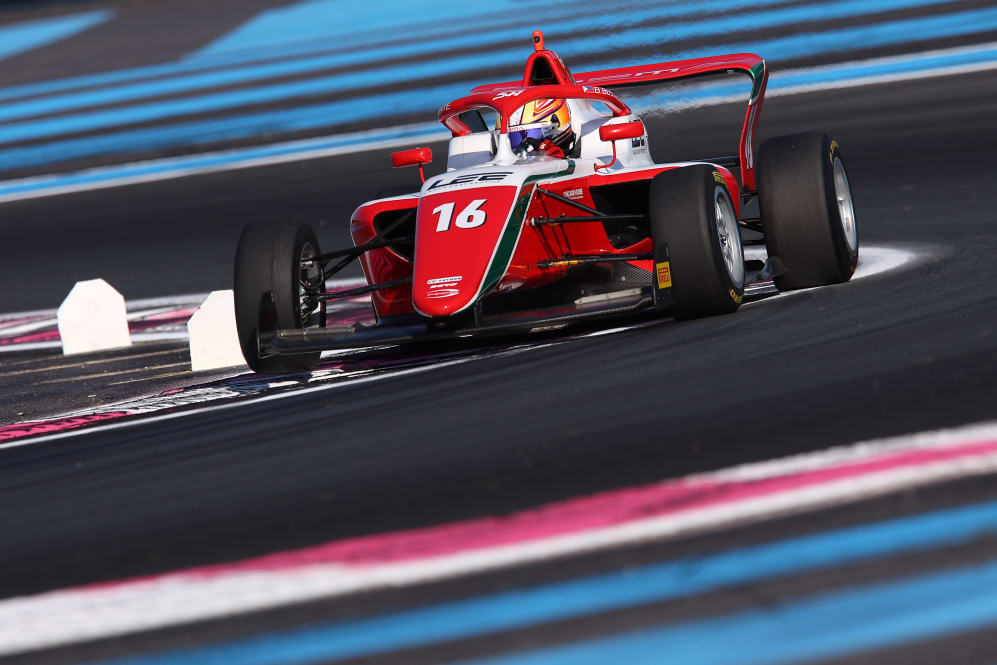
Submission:
<svg viewBox="0 0 997 665">
<path fill-rule="evenodd" d="M 550 185 L 541 181 L 527 185 L 519 196 L 530 197 L 526 220 L 559 215 L 575 216 L 578 214 L 576 208 L 550 197 L 537 195 L 535 188 L 539 186 L 562 196 L 574 192 L 572 200 L 594 207 L 591 187 L 650 180 L 672 168 L 677 167 L 661 166 L 613 175 L 589 175 Z M 735 214 L 740 215 L 741 196 L 737 179 L 723 167 L 716 169 L 730 191 Z M 413 277 L 411 287 L 384 289 L 372 294 L 378 316 L 399 316 L 416 312 L 426 316 L 448 316 L 472 305 L 486 286 L 483 281 L 496 240 L 505 224 L 509 223 L 508 217 L 514 214 L 511 209 L 517 198 L 517 189 L 512 186 L 462 189 L 449 193 L 429 193 L 421 200 L 404 198 L 375 201 L 358 208 L 351 226 L 356 245 L 363 244 L 376 235 L 373 221 L 377 214 L 411 209 L 419 204 L 414 274 L 413 264 L 388 248 L 369 251 L 361 258 L 364 274 L 371 284 Z M 479 201 L 481 203 L 477 204 Z M 450 210 L 439 210 L 441 206 L 450 207 Z M 458 226 L 458 216 L 468 209 L 472 212 L 466 216 L 463 226 Z M 474 225 L 475 210 L 484 213 L 484 221 L 478 225 Z M 445 230 L 437 231 L 437 228 L 441 228 L 444 216 L 449 216 L 449 225 Z M 569 268 L 540 268 L 537 264 L 568 254 L 640 254 L 652 250 L 650 238 L 630 247 L 614 248 L 601 222 L 533 225 L 527 221 L 519 233 L 509 265 L 494 288 L 501 292 L 521 287 L 533 288 L 556 281 Z M 651 261 L 631 263 L 648 272 L 652 268 Z"/>
</svg>

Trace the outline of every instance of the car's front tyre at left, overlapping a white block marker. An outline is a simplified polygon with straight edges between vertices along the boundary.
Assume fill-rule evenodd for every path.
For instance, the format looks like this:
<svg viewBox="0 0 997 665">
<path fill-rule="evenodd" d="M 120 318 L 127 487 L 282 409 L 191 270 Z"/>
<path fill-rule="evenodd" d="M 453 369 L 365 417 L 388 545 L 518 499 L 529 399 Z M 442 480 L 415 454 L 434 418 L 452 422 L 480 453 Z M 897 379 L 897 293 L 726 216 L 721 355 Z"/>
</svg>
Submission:
<svg viewBox="0 0 997 665">
<path fill-rule="evenodd" d="M 315 231 L 307 224 L 257 222 L 242 231 L 235 253 L 235 323 L 242 355 L 255 372 L 307 372 L 320 353 L 260 357 L 260 333 L 325 325 L 325 305 L 309 297 L 325 290 Z"/>
</svg>

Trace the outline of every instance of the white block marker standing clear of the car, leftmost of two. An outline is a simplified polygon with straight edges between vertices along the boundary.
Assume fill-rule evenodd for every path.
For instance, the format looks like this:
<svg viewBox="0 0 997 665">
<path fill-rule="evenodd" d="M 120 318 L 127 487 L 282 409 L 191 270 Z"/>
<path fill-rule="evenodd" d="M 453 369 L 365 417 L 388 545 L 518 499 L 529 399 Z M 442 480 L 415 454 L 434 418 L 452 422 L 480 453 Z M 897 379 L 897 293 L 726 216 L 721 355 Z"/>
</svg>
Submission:
<svg viewBox="0 0 997 665">
<path fill-rule="evenodd" d="M 62 353 L 131 346 L 125 299 L 102 279 L 76 282 L 56 313 Z"/>
</svg>

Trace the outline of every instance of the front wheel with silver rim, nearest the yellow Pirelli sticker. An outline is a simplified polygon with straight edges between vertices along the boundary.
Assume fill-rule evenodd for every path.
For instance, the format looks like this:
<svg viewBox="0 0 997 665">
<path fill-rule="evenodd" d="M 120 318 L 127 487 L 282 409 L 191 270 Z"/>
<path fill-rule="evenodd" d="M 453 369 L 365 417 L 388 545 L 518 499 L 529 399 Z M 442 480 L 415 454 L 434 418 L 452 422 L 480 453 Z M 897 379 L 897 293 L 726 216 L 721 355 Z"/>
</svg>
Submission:
<svg viewBox="0 0 997 665">
<path fill-rule="evenodd" d="M 744 249 L 720 172 L 703 164 L 659 173 L 648 203 L 656 253 L 668 244 L 675 317 L 737 311 L 744 297 Z"/>
</svg>

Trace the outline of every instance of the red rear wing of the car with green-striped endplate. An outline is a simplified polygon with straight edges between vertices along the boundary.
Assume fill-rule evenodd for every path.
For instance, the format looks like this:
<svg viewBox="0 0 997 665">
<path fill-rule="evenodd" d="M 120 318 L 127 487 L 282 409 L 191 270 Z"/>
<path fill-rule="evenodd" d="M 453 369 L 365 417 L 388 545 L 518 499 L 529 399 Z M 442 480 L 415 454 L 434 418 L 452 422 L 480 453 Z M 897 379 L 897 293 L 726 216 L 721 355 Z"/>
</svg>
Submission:
<svg viewBox="0 0 997 665">
<path fill-rule="evenodd" d="M 553 52 L 546 50 L 535 53 L 534 55 L 540 55 L 541 53 L 553 55 Z M 557 56 L 554 55 L 554 58 L 557 58 Z M 560 59 L 558 58 L 559 61 Z M 561 75 L 572 76 L 566 71 L 563 73 L 558 71 L 560 68 L 556 65 L 552 69 L 558 79 L 561 78 Z M 529 71 L 529 66 L 527 66 L 527 72 Z M 744 125 L 741 128 L 738 161 L 741 167 L 741 183 L 743 188 L 745 190 L 755 190 L 754 138 L 755 131 L 758 128 L 758 118 L 762 111 L 762 102 L 765 99 L 765 85 L 768 83 L 768 67 L 765 65 L 765 61 L 759 56 L 754 53 L 734 53 L 731 55 L 711 56 L 709 58 L 661 62 L 653 65 L 603 69 L 574 74 L 573 79 L 578 85 L 613 89 L 647 85 L 659 81 L 694 78 L 720 72 L 741 72 L 751 78 L 751 95 L 748 97 L 748 109 L 744 116 Z M 567 81 L 560 82 L 567 83 Z M 497 93 L 519 89 L 523 85 L 523 81 L 491 83 L 478 86 L 472 92 Z"/>
</svg>

